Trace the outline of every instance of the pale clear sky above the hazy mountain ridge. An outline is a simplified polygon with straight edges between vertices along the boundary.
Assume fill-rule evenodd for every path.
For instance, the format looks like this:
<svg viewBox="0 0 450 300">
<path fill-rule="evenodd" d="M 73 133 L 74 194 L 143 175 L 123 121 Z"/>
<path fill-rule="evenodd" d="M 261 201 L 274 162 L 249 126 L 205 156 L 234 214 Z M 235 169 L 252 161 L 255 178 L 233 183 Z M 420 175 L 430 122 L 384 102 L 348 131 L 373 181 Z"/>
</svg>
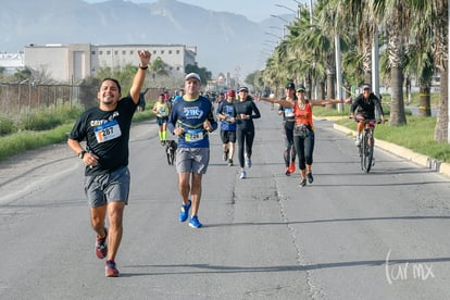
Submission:
<svg viewBox="0 0 450 300">
<path fill-rule="evenodd" d="M 89 3 L 105 0 L 85 0 Z M 157 0 L 126 0 L 136 3 L 154 3 Z M 295 13 L 297 3 L 310 3 L 309 0 L 178 0 L 211 11 L 225 11 L 247 16 L 255 22 L 274 15 Z"/>
</svg>

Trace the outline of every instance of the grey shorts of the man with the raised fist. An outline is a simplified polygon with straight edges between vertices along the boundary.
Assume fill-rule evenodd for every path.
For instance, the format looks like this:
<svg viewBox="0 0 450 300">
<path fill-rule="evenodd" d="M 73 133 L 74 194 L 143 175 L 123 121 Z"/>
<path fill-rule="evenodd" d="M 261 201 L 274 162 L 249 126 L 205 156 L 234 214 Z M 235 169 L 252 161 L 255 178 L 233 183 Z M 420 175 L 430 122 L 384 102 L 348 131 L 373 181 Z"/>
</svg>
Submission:
<svg viewBox="0 0 450 300">
<path fill-rule="evenodd" d="M 85 192 L 93 209 L 110 202 L 128 204 L 130 175 L 128 166 L 101 175 L 85 176 Z"/>
</svg>

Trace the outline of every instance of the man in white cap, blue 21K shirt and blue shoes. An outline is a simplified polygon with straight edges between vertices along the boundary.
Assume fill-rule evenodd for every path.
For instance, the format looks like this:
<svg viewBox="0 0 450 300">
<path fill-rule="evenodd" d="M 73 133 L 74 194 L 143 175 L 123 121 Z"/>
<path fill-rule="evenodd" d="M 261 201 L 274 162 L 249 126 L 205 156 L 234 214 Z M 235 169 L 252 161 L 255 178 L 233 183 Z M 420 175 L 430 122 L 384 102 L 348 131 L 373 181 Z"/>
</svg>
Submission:
<svg viewBox="0 0 450 300">
<path fill-rule="evenodd" d="M 189 73 L 185 77 L 185 96 L 174 103 L 168 116 L 168 129 L 178 136 L 176 150 L 176 172 L 178 190 L 182 196 L 179 221 L 185 222 L 192 205 L 189 226 L 202 226 L 198 218 L 201 199 L 202 175 L 207 173 L 210 162 L 209 133 L 217 128 L 211 101 L 200 96 L 201 79 L 199 74 Z M 190 185 L 191 184 L 191 185 Z M 190 197 L 190 199 L 189 199 Z"/>
</svg>

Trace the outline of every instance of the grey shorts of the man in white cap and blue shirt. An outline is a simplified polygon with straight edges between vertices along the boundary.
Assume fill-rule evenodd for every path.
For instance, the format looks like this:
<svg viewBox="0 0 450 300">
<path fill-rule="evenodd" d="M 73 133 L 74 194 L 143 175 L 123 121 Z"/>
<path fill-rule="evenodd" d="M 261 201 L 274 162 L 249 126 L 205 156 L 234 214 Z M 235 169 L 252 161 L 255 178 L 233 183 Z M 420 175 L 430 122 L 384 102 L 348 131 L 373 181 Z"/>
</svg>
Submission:
<svg viewBox="0 0 450 300">
<path fill-rule="evenodd" d="M 210 148 L 176 149 L 176 172 L 205 174 L 210 163 Z"/>
</svg>

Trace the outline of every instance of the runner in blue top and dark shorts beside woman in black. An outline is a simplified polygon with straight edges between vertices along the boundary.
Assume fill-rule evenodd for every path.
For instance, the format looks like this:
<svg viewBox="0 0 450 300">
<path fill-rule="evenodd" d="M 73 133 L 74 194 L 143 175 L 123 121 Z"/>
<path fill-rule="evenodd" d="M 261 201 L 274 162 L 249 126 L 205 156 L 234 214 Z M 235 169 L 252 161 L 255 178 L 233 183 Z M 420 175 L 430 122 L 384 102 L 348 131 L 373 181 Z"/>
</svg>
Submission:
<svg viewBox="0 0 450 300">
<path fill-rule="evenodd" d="M 221 120 L 221 139 L 224 148 L 224 161 L 228 162 L 228 165 L 233 165 L 233 158 L 235 155 L 236 143 L 236 111 L 234 101 L 236 92 L 234 89 L 229 89 L 226 93 L 226 100 L 218 103 L 216 114 Z"/>
</svg>

